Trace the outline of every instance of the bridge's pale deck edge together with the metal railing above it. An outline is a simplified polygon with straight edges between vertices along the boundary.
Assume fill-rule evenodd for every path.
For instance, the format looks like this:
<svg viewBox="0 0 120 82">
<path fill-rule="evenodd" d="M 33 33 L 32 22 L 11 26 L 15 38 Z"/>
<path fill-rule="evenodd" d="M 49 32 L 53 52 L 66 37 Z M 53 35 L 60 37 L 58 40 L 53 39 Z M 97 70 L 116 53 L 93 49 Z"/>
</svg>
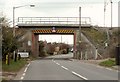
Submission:
<svg viewBox="0 0 120 82">
<path fill-rule="evenodd" d="M 82 27 L 91 27 L 89 17 L 81 18 Z M 79 17 L 19 17 L 19 27 L 79 27 Z"/>
</svg>

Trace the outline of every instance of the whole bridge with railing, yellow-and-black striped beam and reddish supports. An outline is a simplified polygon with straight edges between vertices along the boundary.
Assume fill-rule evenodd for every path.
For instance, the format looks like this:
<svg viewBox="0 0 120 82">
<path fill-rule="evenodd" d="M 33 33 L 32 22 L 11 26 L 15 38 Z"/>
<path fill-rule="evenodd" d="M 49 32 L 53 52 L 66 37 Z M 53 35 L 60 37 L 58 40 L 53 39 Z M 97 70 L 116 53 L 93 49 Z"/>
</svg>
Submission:
<svg viewBox="0 0 120 82">
<path fill-rule="evenodd" d="M 39 34 L 72 34 L 74 35 L 74 51 L 76 51 L 79 25 L 82 28 L 89 28 L 92 26 L 91 19 L 81 17 L 80 24 L 79 17 L 19 17 L 17 23 L 19 28 L 27 30 L 26 38 L 32 43 L 29 49 L 34 56 L 39 55 Z"/>
</svg>

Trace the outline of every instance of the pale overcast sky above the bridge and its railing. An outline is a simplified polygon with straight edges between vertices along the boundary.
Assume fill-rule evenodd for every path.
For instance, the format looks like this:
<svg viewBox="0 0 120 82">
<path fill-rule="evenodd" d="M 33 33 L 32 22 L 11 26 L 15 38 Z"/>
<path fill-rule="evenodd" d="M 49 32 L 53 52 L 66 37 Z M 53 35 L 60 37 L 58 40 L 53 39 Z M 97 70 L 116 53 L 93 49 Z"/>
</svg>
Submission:
<svg viewBox="0 0 120 82">
<path fill-rule="evenodd" d="M 110 26 L 110 0 L 106 0 L 106 26 Z M 118 26 L 118 2 L 113 0 L 113 26 Z M 0 12 L 12 21 L 13 6 L 34 4 L 15 10 L 18 17 L 75 17 L 79 16 L 82 7 L 82 17 L 90 17 L 93 25 L 104 25 L 104 0 L 0 0 Z M 71 36 L 72 37 L 72 36 Z M 71 39 L 72 40 L 72 39 Z"/>
</svg>

